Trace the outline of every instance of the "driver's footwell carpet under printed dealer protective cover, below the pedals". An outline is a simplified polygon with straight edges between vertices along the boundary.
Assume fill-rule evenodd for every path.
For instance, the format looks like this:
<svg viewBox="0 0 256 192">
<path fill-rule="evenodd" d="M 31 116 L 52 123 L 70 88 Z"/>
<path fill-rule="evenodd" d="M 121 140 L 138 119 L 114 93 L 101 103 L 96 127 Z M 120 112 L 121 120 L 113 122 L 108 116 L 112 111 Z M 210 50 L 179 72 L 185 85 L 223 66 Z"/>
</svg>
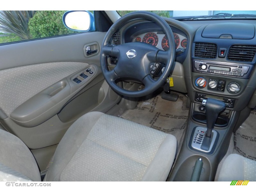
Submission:
<svg viewBox="0 0 256 192">
<path fill-rule="evenodd" d="M 187 97 L 180 94 L 177 101 L 168 101 L 157 95 L 140 101 L 135 109 L 125 111 L 120 117 L 159 131 L 169 133 L 182 140 L 188 118 Z"/>
</svg>

